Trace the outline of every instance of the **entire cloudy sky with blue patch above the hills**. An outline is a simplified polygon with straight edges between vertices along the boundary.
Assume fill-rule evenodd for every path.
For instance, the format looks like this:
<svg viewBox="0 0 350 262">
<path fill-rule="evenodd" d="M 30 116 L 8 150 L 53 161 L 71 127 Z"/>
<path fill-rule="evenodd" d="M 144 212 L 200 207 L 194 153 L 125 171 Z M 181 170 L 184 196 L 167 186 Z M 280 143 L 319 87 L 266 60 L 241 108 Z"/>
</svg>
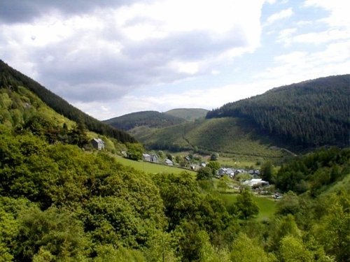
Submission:
<svg viewBox="0 0 350 262">
<path fill-rule="evenodd" d="M 93 117 L 350 73 L 345 0 L 0 0 L 0 59 Z"/>
</svg>

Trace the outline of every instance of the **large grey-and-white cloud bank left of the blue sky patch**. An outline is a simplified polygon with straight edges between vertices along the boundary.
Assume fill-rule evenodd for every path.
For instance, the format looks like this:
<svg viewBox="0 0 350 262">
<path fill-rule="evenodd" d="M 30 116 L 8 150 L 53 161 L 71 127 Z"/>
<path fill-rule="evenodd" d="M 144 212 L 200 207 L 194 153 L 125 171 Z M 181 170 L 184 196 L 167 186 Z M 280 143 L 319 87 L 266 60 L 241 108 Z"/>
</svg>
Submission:
<svg viewBox="0 0 350 262">
<path fill-rule="evenodd" d="M 0 51 L 69 101 L 112 101 L 252 52 L 261 8 L 230 0 L 3 1 Z"/>
</svg>

